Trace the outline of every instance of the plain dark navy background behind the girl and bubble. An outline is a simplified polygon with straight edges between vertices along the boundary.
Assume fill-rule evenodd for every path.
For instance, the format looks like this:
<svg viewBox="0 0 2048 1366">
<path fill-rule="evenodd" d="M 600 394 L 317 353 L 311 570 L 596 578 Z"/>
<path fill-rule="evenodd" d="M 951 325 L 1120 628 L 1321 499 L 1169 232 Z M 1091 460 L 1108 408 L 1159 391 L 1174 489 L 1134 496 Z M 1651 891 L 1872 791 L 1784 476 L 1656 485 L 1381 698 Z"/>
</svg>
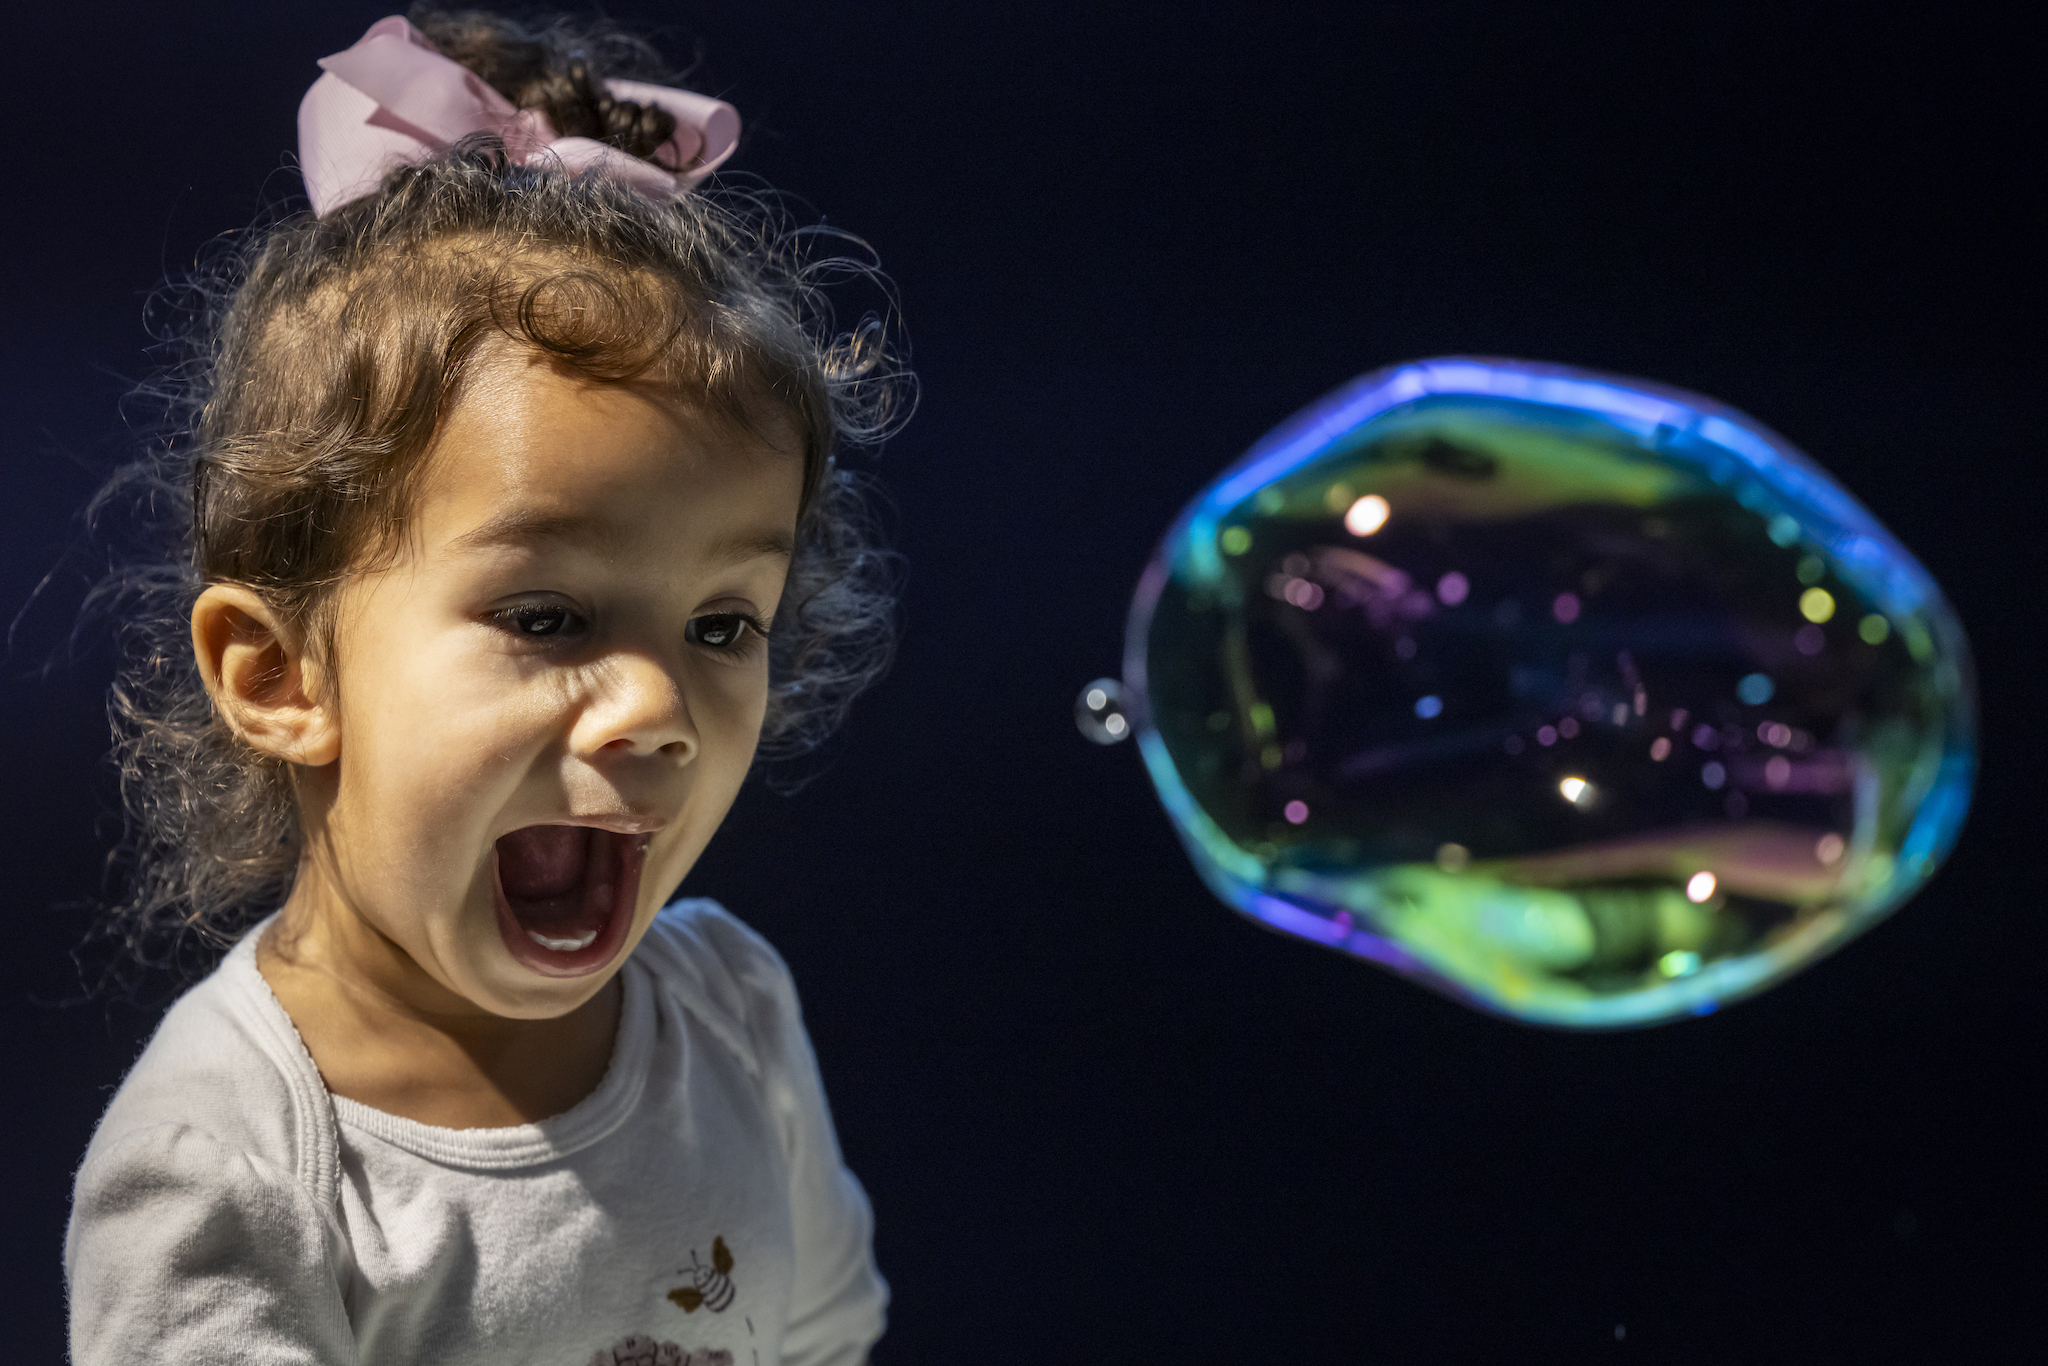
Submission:
<svg viewBox="0 0 2048 1366">
<path fill-rule="evenodd" d="M 2017 8 L 2017 6 L 2015 6 Z M 901 664 L 686 889 L 784 950 L 895 1284 L 879 1366 L 2044 1360 L 2038 45 L 1999 6 L 618 2 L 864 233 L 924 410 Z M 8 1362 L 150 1020 L 76 993 L 109 651 L 51 672 L 147 291 L 381 4 L 10 18 Z M 1806 446 L 1972 631 L 1985 770 L 1901 915 L 1708 1020 L 1481 1018 L 1196 883 L 1073 729 L 1180 504 L 1393 360 L 1645 375 Z M 2038 1206 L 2036 1206 L 2038 1208 Z"/>
</svg>

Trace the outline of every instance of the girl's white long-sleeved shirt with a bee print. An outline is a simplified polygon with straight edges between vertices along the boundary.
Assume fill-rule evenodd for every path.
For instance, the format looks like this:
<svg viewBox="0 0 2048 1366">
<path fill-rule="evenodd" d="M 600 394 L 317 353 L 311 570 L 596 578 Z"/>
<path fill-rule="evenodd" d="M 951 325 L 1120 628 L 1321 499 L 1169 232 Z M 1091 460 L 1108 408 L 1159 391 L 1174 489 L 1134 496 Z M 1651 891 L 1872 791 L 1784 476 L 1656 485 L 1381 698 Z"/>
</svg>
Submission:
<svg viewBox="0 0 2048 1366">
<path fill-rule="evenodd" d="M 76 1366 L 850 1366 L 883 1331 L 788 969 L 711 901 L 621 971 L 565 1114 L 434 1128 L 330 1096 L 248 934 L 78 1171 Z"/>
</svg>

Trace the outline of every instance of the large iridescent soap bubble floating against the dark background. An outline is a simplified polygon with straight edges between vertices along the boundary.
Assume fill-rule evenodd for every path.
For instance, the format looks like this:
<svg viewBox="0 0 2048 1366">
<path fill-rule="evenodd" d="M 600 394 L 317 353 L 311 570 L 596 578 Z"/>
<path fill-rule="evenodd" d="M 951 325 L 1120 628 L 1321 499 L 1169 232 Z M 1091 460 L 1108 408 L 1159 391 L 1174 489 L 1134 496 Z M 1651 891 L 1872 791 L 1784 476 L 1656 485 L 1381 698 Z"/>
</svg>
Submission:
<svg viewBox="0 0 2048 1366">
<path fill-rule="evenodd" d="M 1182 512 L 1126 707 L 1231 905 L 1563 1026 L 1704 1014 L 1925 883 L 1974 768 L 1919 563 L 1710 399 L 1368 375 Z"/>
</svg>

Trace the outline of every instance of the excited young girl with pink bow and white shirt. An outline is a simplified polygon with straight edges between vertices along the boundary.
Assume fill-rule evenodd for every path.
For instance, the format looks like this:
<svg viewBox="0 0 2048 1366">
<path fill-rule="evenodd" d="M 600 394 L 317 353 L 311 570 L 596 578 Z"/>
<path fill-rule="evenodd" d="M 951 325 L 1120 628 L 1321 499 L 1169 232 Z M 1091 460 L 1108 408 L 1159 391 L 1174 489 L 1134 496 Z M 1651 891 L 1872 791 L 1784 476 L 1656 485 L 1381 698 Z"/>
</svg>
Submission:
<svg viewBox="0 0 2048 1366">
<path fill-rule="evenodd" d="M 328 57 L 315 213 L 244 254 L 141 471 L 188 518 L 176 629 L 115 692 L 123 934 L 233 946 L 78 1171 L 80 1364 L 881 1333 L 788 971 L 664 901 L 758 741 L 881 668 L 887 559 L 829 453 L 897 379 L 692 188 L 737 117 L 651 63 L 422 10 Z"/>
</svg>

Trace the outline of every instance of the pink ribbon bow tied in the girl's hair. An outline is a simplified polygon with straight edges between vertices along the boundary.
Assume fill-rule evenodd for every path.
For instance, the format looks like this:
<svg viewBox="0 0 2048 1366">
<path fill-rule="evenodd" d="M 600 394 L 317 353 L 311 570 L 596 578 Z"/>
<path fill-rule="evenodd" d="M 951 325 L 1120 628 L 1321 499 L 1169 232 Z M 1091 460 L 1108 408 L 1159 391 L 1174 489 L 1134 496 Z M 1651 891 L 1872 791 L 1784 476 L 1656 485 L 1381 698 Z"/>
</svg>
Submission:
<svg viewBox="0 0 2048 1366">
<path fill-rule="evenodd" d="M 655 104 L 676 117 L 676 135 L 657 152 L 674 172 L 590 137 L 555 137 L 547 115 L 514 109 L 397 14 L 379 18 L 354 47 L 322 57 L 319 66 L 326 74 L 299 102 L 299 170 L 319 215 L 369 195 L 391 168 L 426 160 L 471 133 L 496 133 L 518 164 L 555 162 L 573 174 L 598 168 L 649 199 L 696 184 L 739 141 L 739 111 L 731 104 L 637 80 L 604 86 L 612 98 Z"/>
</svg>

